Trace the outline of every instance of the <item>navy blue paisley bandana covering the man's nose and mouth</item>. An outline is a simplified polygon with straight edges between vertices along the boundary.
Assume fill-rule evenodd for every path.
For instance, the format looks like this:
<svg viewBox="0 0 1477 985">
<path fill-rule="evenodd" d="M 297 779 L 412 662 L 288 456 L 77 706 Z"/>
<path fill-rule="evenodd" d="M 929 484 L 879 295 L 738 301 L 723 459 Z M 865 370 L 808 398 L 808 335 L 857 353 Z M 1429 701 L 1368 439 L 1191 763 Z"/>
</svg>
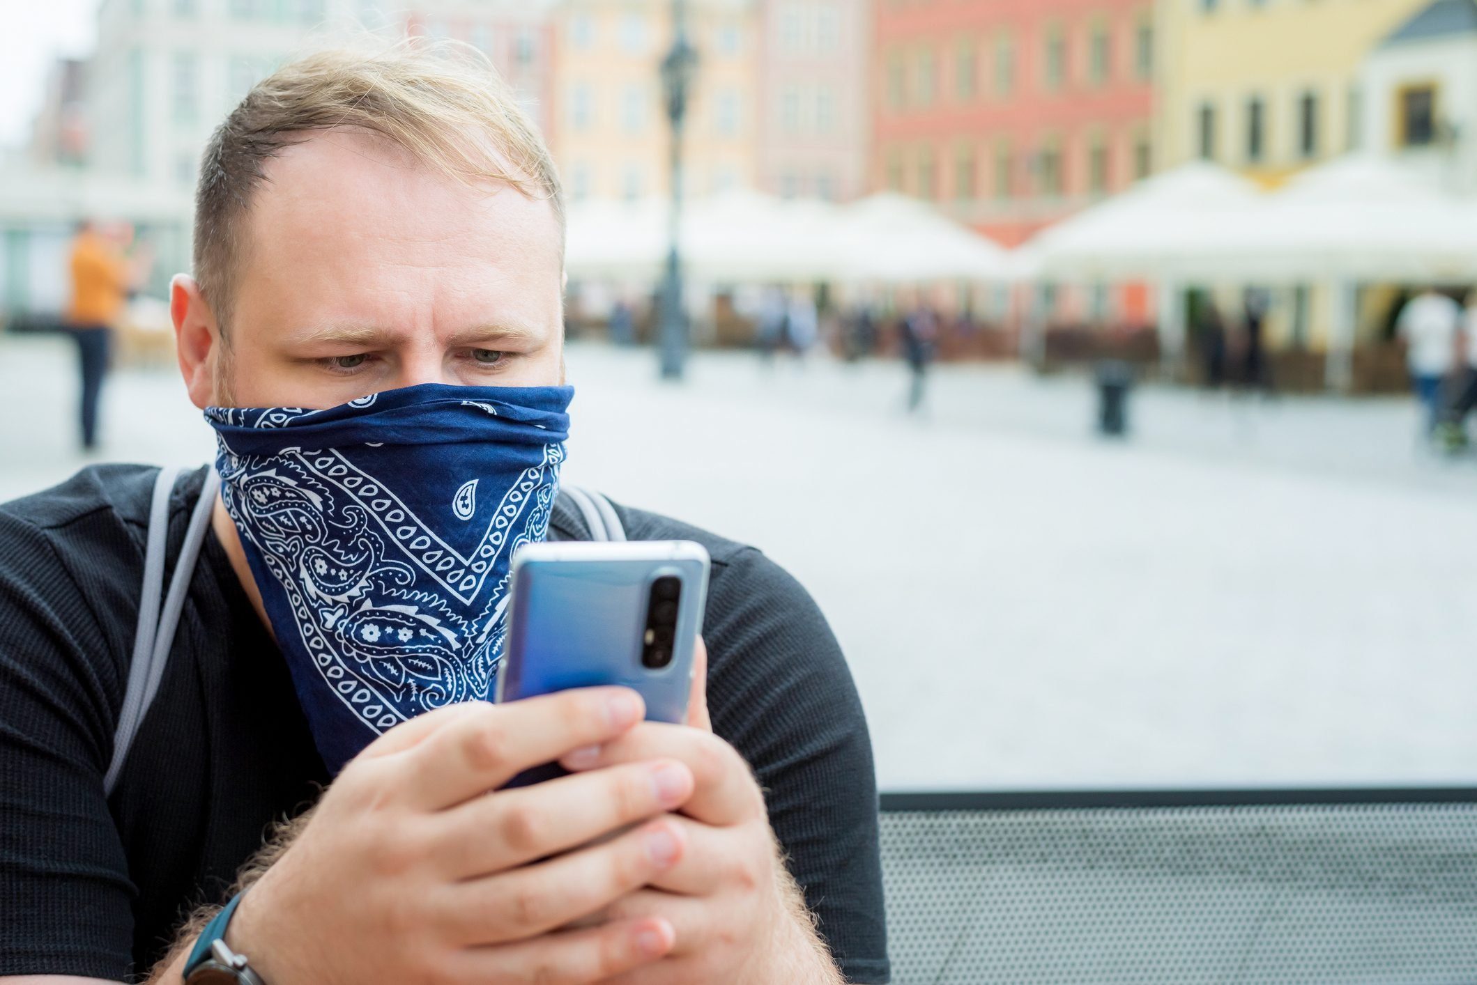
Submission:
<svg viewBox="0 0 1477 985">
<path fill-rule="evenodd" d="M 334 774 L 385 730 L 492 694 L 510 560 L 548 535 L 572 397 L 424 384 L 328 411 L 205 411 L 222 499 Z"/>
</svg>

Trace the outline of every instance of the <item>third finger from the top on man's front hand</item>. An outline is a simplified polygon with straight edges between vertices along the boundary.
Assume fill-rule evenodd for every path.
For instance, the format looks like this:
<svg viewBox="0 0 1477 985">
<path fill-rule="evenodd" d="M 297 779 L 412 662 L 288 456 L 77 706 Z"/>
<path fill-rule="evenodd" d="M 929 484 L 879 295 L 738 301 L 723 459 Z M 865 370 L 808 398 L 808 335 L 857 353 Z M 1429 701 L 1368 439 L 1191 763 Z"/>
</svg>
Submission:
<svg viewBox="0 0 1477 985">
<path fill-rule="evenodd" d="M 601 845 L 446 888 L 437 924 L 467 945 L 507 944 L 563 927 L 645 886 L 685 851 L 676 818 Z"/>
</svg>

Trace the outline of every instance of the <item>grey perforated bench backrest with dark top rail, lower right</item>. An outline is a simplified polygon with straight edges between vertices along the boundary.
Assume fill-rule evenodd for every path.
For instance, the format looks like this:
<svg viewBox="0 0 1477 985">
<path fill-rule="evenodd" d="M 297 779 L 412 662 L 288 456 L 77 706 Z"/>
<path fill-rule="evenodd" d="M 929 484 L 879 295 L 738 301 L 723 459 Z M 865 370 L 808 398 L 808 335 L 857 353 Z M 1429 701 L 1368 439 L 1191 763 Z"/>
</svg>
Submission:
<svg viewBox="0 0 1477 985">
<path fill-rule="evenodd" d="M 1477 982 L 1477 790 L 882 796 L 892 981 Z"/>
</svg>

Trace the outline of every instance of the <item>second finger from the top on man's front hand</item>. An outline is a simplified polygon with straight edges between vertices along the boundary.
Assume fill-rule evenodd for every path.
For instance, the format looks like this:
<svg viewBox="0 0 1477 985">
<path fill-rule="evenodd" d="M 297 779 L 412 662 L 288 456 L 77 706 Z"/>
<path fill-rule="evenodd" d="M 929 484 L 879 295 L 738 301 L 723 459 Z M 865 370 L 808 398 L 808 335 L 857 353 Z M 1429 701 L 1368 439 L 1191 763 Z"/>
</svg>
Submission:
<svg viewBox="0 0 1477 985">
<path fill-rule="evenodd" d="M 431 854 L 452 879 L 498 873 L 675 811 L 693 786 L 684 763 L 663 759 L 499 790 L 437 815 Z"/>
</svg>

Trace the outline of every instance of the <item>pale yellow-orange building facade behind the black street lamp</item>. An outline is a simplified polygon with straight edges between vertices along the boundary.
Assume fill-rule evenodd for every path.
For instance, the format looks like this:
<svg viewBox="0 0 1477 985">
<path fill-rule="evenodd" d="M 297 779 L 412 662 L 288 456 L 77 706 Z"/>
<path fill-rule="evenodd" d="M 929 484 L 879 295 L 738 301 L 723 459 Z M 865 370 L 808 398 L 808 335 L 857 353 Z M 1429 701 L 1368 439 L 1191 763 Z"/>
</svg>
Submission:
<svg viewBox="0 0 1477 985">
<path fill-rule="evenodd" d="M 549 143 L 566 192 L 640 199 L 669 189 L 659 68 L 672 46 L 668 0 L 566 0 L 555 12 Z M 699 66 L 688 102 L 685 191 L 752 186 L 756 168 L 755 0 L 688 0 Z"/>
</svg>

